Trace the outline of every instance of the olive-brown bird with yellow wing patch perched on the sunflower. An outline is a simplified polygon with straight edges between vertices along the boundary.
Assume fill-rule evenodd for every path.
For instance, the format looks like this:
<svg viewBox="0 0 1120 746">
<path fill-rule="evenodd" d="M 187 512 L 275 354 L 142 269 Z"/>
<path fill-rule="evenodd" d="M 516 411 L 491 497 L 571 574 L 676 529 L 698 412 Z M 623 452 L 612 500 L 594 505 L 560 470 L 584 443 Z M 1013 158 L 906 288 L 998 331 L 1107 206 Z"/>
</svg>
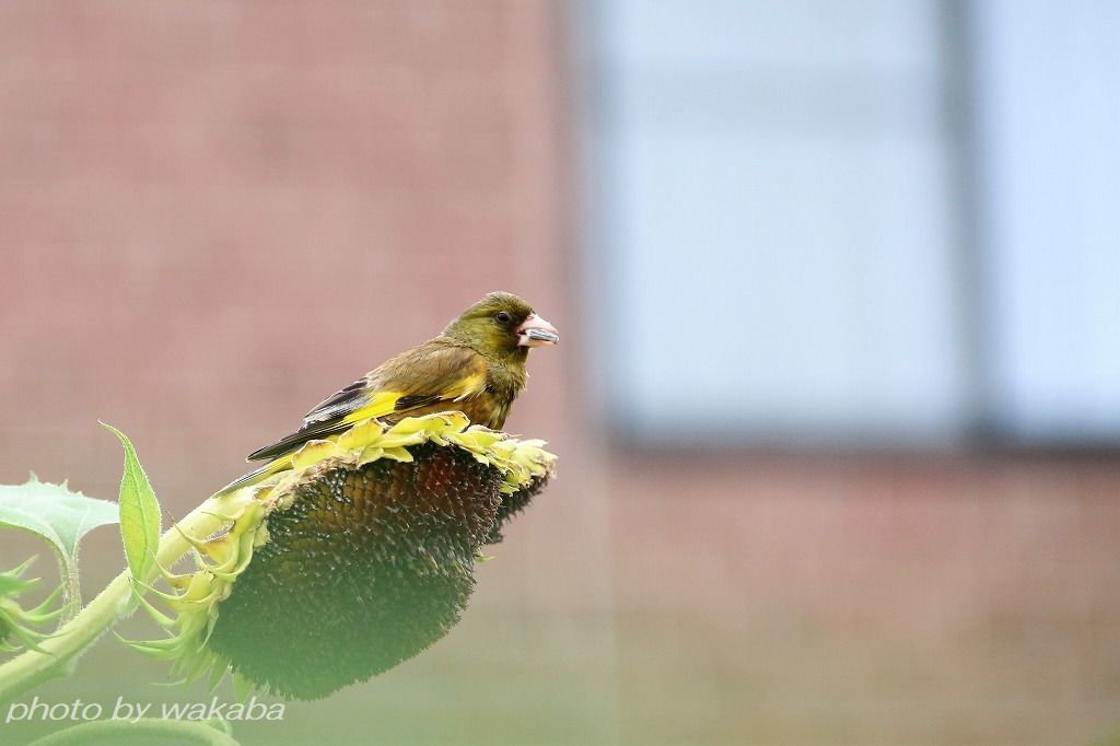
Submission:
<svg viewBox="0 0 1120 746">
<path fill-rule="evenodd" d="M 337 438 L 371 418 L 392 425 L 405 417 L 456 410 L 475 425 L 501 430 L 529 379 L 530 347 L 558 342 L 556 328 L 524 300 L 491 292 L 438 337 L 382 363 L 319 402 L 299 430 L 249 455 L 250 461 L 269 459 L 264 466 L 217 494 L 287 470 L 292 454 L 308 440 Z"/>
</svg>

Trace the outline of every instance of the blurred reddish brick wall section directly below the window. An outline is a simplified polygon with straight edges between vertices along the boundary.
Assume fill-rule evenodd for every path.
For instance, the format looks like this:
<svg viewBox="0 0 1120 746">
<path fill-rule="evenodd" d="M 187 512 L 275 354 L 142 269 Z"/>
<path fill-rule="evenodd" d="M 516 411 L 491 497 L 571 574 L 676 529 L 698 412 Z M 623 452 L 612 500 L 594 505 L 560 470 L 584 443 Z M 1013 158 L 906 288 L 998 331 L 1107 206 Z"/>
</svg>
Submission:
<svg viewBox="0 0 1120 746">
<path fill-rule="evenodd" d="M 1120 744 L 1120 460 L 619 457 L 626 744 Z"/>
</svg>

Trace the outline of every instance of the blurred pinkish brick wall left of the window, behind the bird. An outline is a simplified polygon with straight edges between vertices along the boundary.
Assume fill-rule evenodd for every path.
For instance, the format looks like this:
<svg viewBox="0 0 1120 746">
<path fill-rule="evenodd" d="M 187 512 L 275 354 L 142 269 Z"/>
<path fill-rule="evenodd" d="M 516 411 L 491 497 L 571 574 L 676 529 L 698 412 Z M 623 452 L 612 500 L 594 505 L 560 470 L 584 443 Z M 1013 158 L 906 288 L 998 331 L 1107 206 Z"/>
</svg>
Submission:
<svg viewBox="0 0 1120 746">
<path fill-rule="evenodd" d="M 564 334 L 508 422 L 552 441 L 563 481 L 455 634 L 293 715 L 302 743 L 394 718 L 395 743 L 613 727 L 604 509 L 573 437 L 559 20 L 534 0 L 0 2 L 3 483 L 34 469 L 115 496 L 101 418 L 181 515 L 489 290 Z M 121 559 L 111 531 L 87 544 L 92 587 Z M 113 666 L 121 687 L 162 675 L 104 641 L 86 683 L 50 691 Z"/>
</svg>

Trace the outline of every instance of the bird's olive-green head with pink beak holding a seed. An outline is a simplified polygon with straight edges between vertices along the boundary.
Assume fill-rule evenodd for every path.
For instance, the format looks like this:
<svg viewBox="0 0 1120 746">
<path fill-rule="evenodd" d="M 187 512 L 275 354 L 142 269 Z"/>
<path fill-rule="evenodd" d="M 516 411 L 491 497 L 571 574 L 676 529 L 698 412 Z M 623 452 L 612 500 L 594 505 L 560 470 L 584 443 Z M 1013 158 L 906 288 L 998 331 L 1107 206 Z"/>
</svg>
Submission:
<svg viewBox="0 0 1120 746">
<path fill-rule="evenodd" d="M 524 358 L 530 347 L 560 342 L 551 324 L 510 292 L 488 293 L 451 321 L 444 336 L 493 357 Z"/>
</svg>

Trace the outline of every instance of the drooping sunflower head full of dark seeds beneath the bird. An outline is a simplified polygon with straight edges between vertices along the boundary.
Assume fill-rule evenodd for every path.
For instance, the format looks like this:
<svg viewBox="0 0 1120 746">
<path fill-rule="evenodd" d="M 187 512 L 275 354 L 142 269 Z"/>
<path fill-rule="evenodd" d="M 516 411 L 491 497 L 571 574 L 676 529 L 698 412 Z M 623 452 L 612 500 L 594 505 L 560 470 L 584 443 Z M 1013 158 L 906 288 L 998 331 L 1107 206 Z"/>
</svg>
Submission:
<svg viewBox="0 0 1120 746">
<path fill-rule="evenodd" d="M 553 473 L 542 446 L 458 412 L 310 441 L 291 472 L 215 498 L 225 530 L 188 538 L 193 572 L 161 568 L 164 610 L 144 602 L 174 634 L 131 644 L 185 680 L 232 669 L 298 698 L 384 671 L 458 621 L 480 548 Z"/>
</svg>

